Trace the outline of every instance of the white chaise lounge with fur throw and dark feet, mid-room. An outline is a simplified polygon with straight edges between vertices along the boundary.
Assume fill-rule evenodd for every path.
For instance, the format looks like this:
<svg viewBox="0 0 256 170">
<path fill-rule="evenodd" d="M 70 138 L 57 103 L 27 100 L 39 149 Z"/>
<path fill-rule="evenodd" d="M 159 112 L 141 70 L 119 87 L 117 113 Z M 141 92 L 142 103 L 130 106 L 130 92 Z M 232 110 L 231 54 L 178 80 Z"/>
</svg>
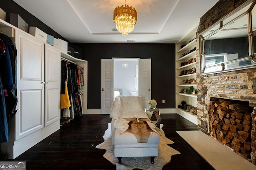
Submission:
<svg viewBox="0 0 256 170">
<path fill-rule="evenodd" d="M 148 118 L 143 109 L 143 98 L 138 96 L 117 96 L 112 105 L 110 114 L 112 117 L 112 145 L 114 145 L 114 155 L 121 164 L 122 157 L 150 156 L 151 163 L 158 156 L 159 135 L 155 131 L 154 124 L 147 121 L 147 124 L 154 131 L 145 143 L 138 143 L 134 134 L 125 132 L 129 127 L 126 118 Z M 122 132 L 122 134 L 120 134 Z"/>
</svg>

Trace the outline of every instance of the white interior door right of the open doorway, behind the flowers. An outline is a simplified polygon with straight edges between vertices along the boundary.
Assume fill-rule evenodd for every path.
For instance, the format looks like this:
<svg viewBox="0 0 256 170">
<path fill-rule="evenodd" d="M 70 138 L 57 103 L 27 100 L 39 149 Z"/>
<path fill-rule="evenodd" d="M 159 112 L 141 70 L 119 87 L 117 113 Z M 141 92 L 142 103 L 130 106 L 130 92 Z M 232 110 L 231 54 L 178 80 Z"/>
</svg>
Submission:
<svg viewBox="0 0 256 170">
<path fill-rule="evenodd" d="M 151 59 L 139 60 L 139 96 L 143 97 L 143 107 L 151 100 Z"/>
</svg>

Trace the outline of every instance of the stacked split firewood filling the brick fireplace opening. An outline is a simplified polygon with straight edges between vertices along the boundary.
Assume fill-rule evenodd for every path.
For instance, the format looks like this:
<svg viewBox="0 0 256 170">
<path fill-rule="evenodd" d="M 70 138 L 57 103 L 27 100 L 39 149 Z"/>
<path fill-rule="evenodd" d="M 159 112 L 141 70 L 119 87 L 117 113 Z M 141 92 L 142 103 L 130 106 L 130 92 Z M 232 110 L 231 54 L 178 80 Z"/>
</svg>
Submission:
<svg viewBox="0 0 256 170">
<path fill-rule="evenodd" d="M 253 108 L 232 100 L 210 101 L 210 135 L 250 158 Z"/>
</svg>

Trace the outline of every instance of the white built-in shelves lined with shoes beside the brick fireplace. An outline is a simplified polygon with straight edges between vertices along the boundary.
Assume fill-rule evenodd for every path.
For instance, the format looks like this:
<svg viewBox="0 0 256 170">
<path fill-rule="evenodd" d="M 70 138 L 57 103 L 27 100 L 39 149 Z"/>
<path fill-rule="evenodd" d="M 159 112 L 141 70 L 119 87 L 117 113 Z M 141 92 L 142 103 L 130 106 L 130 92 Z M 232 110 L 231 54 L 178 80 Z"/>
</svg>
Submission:
<svg viewBox="0 0 256 170">
<path fill-rule="evenodd" d="M 181 84 L 181 82 L 186 79 L 190 80 L 194 78 L 196 80 L 196 73 L 185 74 L 185 75 L 180 75 L 180 74 L 183 70 L 188 70 L 196 67 L 196 62 L 186 64 L 184 66 L 181 66 L 181 63 L 183 64 L 183 62 L 196 58 L 196 51 L 194 50 L 194 48 L 196 47 L 195 38 L 196 38 L 197 29 L 198 27 L 194 28 L 192 31 L 190 31 L 188 35 L 186 35 L 183 39 L 181 39 L 176 44 L 176 109 L 179 115 L 188 119 L 189 121 L 191 121 L 196 125 L 197 125 L 197 116 L 188 111 L 184 111 L 178 108 L 178 105 L 181 105 L 182 101 L 185 101 L 186 104 L 189 104 L 192 106 L 196 106 L 197 104 L 196 94 L 180 93 L 182 89 L 188 88 L 190 86 L 194 86 L 194 88 L 196 89 L 196 84 Z"/>
</svg>

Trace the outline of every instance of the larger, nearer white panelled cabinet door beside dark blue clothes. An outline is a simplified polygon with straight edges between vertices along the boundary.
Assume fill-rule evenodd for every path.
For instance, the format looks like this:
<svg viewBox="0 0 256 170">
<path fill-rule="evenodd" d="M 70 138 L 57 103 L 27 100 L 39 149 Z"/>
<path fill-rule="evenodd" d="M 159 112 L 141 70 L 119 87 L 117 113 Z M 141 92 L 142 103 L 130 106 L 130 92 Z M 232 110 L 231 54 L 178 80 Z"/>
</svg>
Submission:
<svg viewBox="0 0 256 170">
<path fill-rule="evenodd" d="M 44 126 L 44 43 L 16 30 L 17 113 L 15 140 Z"/>
</svg>

